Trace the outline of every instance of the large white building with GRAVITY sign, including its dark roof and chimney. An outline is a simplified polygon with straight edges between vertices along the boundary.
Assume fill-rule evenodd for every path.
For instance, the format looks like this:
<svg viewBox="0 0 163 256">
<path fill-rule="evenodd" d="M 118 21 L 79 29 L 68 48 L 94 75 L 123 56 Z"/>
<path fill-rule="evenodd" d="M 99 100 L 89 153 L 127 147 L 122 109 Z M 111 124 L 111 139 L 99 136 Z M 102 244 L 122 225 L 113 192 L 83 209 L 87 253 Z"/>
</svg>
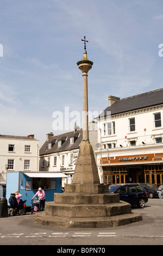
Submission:
<svg viewBox="0 0 163 256">
<path fill-rule="evenodd" d="M 98 120 L 98 168 L 106 184 L 163 182 L 163 89 L 125 99 L 109 96 Z"/>
</svg>

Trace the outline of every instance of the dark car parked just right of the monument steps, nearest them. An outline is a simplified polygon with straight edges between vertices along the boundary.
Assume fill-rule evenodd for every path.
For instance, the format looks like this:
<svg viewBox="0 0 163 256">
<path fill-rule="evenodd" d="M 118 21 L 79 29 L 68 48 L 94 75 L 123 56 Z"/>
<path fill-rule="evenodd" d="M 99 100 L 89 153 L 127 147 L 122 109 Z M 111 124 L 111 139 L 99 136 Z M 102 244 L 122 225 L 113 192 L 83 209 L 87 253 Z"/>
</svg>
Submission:
<svg viewBox="0 0 163 256">
<path fill-rule="evenodd" d="M 109 193 L 111 192 L 119 193 L 120 200 L 141 208 L 148 202 L 147 191 L 138 183 L 112 184 L 109 186 Z"/>
</svg>

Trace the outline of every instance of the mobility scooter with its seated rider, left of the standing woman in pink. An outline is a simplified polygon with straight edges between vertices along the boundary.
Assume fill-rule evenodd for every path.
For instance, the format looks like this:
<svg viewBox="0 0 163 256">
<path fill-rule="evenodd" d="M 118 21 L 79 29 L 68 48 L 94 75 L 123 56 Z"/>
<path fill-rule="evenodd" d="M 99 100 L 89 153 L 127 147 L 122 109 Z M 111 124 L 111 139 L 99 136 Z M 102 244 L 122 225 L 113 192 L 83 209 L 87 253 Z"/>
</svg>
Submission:
<svg viewBox="0 0 163 256">
<path fill-rule="evenodd" d="M 9 198 L 9 208 L 8 208 L 8 216 L 12 214 L 12 216 L 18 215 L 24 215 L 26 214 L 26 201 L 27 200 L 20 200 L 19 203 L 17 203 L 16 197 L 14 193 L 10 194 Z"/>
</svg>

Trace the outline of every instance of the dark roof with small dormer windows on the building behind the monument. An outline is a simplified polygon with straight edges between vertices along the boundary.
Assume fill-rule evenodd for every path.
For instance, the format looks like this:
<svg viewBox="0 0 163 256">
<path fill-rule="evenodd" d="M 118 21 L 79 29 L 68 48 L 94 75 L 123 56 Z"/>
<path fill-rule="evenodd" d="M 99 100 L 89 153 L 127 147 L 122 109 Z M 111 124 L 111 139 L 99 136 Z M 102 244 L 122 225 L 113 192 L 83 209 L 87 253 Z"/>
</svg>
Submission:
<svg viewBox="0 0 163 256">
<path fill-rule="evenodd" d="M 74 137 L 74 143 L 70 144 L 70 138 Z M 41 149 L 40 149 L 40 156 L 52 153 L 58 153 L 61 151 L 78 149 L 80 143 L 83 139 L 83 131 L 82 129 L 77 130 L 76 132 L 66 132 L 62 133 L 61 135 L 52 136 L 51 138 L 46 141 Z M 58 142 L 62 141 L 61 147 L 58 147 Z M 52 143 L 52 148 L 48 149 L 48 144 Z"/>
</svg>

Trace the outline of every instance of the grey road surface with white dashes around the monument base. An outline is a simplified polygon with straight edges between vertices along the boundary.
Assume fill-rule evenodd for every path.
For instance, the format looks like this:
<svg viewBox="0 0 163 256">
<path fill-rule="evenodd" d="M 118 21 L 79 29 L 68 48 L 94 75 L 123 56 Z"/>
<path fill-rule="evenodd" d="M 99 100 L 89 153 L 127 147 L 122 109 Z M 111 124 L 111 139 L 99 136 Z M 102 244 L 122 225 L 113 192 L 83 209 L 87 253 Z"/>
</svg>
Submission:
<svg viewBox="0 0 163 256">
<path fill-rule="evenodd" d="M 0 245 L 163 245 L 163 199 L 149 199 L 145 208 L 132 211 L 140 212 L 143 220 L 103 229 L 39 225 L 30 213 L 0 218 Z"/>
</svg>

